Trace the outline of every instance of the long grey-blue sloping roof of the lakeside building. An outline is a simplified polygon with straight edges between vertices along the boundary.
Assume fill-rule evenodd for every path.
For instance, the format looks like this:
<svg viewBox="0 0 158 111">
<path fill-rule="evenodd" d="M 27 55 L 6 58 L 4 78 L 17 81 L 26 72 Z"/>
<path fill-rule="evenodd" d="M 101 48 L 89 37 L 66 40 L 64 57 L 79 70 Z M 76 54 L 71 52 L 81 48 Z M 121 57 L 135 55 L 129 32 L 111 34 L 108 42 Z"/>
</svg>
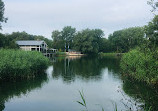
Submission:
<svg viewBox="0 0 158 111">
<path fill-rule="evenodd" d="M 29 45 L 29 46 L 41 45 L 41 44 L 43 44 L 43 42 L 44 41 L 39 41 L 39 40 L 19 40 L 19 41 L 16 41 L 16 43 L 18 45 L 25 45 L 25 46 L 27 46 L 27 45 Z"/>
</svg>

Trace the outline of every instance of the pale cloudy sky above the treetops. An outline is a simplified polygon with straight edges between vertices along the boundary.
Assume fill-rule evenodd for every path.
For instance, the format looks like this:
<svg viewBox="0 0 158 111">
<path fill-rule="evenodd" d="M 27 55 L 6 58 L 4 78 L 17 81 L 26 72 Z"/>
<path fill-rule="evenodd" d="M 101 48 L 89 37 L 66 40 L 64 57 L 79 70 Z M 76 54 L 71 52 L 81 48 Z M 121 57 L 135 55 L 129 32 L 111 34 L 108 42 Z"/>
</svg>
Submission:
<svg viewBox="0 0 158 111">
<path fill-rule="evenodd" d="M 1 33 L 25 31 L 51 39 L 65 26 L 114 31 L 144 26 L 152 20 L 147 0 L 3 0 L 7 23 Z"/>
</svg>

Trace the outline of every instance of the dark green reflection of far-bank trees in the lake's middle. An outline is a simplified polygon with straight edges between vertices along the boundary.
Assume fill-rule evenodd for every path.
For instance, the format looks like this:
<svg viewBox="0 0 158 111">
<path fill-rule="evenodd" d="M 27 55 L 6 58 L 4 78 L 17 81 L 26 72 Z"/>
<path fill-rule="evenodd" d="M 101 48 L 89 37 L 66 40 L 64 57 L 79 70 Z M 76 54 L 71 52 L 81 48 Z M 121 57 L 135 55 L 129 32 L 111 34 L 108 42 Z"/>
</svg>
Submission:
<svg viewBox="0 0 158 111">
<path fill-rule="evenodd" d="M 81 78 L 84 81 L 102 79 L 102 69 L 108 68 L 109 73 L 117 73 L 119 71 L 118 59 L 100 58 L 100 57 L 67 57 L 57 58 L 53 64 L 53 78 L 71 83 L 75 78 Z M 117 66 L 117 67 L 116 67 Z"/>
</svg>

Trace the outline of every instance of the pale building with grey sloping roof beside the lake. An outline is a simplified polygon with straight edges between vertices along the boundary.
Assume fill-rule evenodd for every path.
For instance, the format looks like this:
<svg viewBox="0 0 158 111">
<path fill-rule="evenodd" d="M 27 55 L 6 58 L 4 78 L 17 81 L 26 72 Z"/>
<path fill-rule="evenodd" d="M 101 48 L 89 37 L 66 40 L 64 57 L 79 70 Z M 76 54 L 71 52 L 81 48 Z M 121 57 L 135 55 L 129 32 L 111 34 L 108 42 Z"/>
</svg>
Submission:
<svg viewBox="0 0 158 111">
<path fill-rule="evenodd" d="M 39 51 L 47 53 L 47 44 L 43 40 L 18 40 L 16 43 L 25 51 Z"/>
</svg>

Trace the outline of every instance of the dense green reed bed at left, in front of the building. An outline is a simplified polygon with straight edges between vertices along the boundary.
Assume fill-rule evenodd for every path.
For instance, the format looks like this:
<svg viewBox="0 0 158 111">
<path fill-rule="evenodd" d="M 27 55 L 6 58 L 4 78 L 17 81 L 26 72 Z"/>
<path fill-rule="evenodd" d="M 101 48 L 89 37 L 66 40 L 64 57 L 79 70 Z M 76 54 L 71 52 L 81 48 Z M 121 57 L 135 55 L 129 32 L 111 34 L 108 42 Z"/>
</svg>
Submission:
<svg viewBox="0 0 158 111">
<path fill-rule="evenodd" d="M 0 50 L 0 79 L 31 78 L 44 71 L 49 60 L 39 52 Z"/>
</svg>

